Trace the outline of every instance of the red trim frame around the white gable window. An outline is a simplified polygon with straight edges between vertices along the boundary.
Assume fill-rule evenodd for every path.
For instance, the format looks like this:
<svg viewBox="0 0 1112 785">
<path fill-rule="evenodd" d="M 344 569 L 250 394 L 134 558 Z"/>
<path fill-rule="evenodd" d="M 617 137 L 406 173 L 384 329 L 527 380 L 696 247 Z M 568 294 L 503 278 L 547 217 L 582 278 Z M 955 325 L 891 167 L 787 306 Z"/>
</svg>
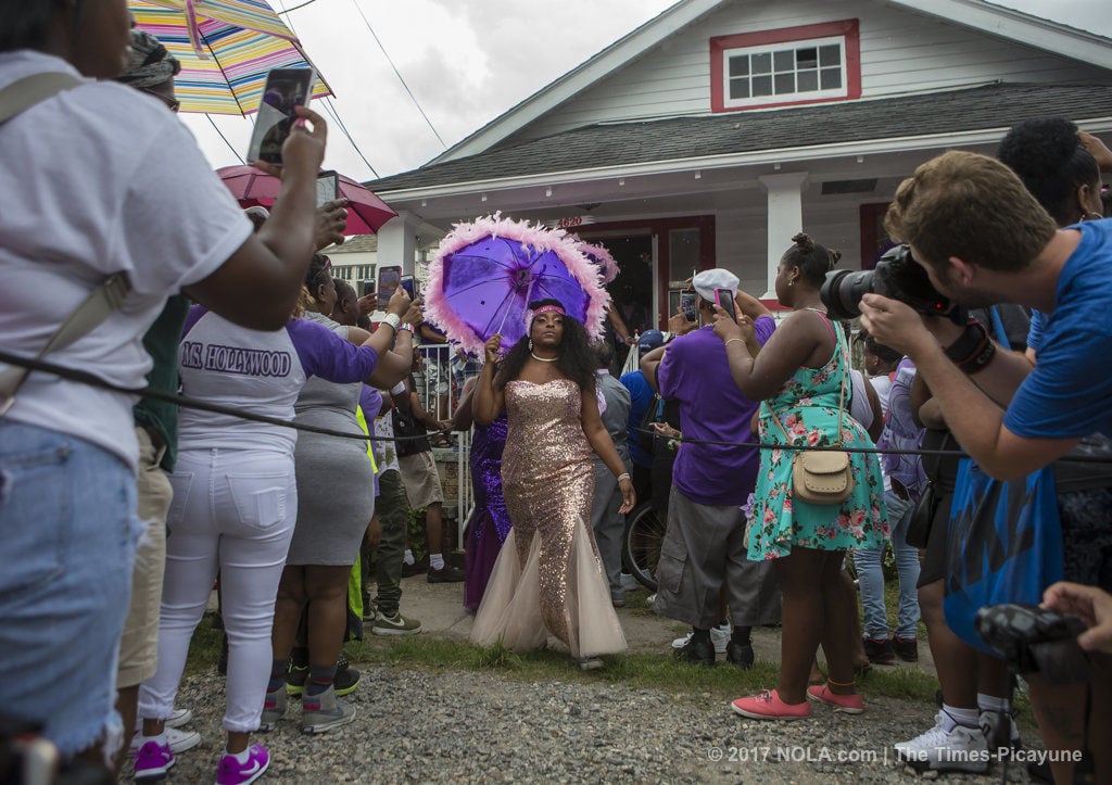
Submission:
<svg viewBox="0 0 1112 785">
<path fill-rule="evenodd" d="M 723 83 L 723 58 L 727 49 L 761 47 L 768 43 L 786 43 L 787 41 L 806 41 L 813 38 L 845 37 L 845 98 L 807 98 L 796 101 L 778 101 L 761 103 L 752 107 L 727 107 L 725 85 Z M 804 103 L 830 103 L 832 101 L 848 101 L 861 98 L 861 32 L 856 19 L 845 19 L 840 22 L 822 24 L 804 24 L 795 28 L 762 30 L 759 32 L 743 32 L 735 36 L 717 36 L 711 39 L 711 111 L 734 112 L 751 109 L 770 109 L 772 107 L 802 106 Z"/>
</svg>

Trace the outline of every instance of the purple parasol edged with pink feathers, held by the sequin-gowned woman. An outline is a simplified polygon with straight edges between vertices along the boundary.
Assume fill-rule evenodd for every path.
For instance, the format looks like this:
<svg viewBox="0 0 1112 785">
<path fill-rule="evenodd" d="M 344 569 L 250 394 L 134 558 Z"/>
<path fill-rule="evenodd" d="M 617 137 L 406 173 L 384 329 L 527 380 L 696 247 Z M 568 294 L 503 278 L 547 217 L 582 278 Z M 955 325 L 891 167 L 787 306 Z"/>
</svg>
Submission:
<svg viewBox="0 0 1112 785">
<path fill-rule="evenodd" d="M 500 215 L 457 223 L 429 265 L 425 316 L 449 340 L 483 354 L 494 334 L 504 346 L 526 334 L 528 304 L 555 299 L 592 336 L 602 335 L 609 296 L 598 269 L 563 230 Z"/>
</svg>

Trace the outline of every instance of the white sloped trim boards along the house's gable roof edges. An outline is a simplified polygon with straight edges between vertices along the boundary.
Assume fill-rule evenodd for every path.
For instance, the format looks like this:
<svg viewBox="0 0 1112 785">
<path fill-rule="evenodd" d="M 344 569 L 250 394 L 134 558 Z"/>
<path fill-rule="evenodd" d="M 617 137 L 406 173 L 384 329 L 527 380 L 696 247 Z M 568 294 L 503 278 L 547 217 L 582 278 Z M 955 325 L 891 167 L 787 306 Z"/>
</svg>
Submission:
<svg viewBox="0 0 1112 785">
<path fill-rule="evenodd" d="M 643 57 L 656 44 L 721 6 L 749 1 L 752 0 L 681 0 L 470 136 L 456 142 L 434 158 L 430 163 L 441 163 L 489 150 L 528 123 Z M 995 6 L 984 0 L 884 1 L 914 13 L 937 17 L 991 36 L 1112 70 L 1110 40 L 1066 24 Z"/>
</svg>

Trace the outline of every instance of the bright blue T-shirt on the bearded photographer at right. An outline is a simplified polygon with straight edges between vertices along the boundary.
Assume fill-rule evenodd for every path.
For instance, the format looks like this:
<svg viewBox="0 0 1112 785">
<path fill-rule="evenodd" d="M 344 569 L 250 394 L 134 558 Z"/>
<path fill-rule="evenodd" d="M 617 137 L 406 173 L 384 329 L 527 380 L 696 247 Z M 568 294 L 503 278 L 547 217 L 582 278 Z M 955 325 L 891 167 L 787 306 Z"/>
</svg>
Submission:
<svg viewBox="0 0 1112 785">
<path fill-rule="evenodd" d="M 1004 427 L 1017 436 L 1112 437 L 1112 374 L 1102 361 L 1112 346 L 1112 220 L 1070 228 L 1081 230 L 1081 242 L 1059 275 L 1039 364 L 1004 414 Z"/>
</svg>

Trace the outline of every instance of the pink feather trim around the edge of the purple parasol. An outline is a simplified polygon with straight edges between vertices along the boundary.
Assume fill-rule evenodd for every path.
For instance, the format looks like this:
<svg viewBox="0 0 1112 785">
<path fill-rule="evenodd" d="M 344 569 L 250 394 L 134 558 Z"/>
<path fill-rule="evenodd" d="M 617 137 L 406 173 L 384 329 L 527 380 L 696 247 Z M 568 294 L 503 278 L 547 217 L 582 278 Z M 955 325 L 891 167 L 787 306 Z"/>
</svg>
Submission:
<svg viewBox="0 0 1112 785">
<path fill-rule="evenodd" d="M 603 320 L 610 298 L 599 279 L 598 267 L 580 250 L 579 246 L 583 244 L 569 237 L 563 229 L 548 229 L 526 220 L 515 221 L 503 218 L 500 212 L 496 212 L 470 222 L 456 223 L 440 240 L 436 257 L 429 264 L 428 280 L 425 286 L 425 317 L 444 330 L 449 340 L 466 351 L 480 356 L 483 354 L 485 339 L 476 335 L 447 301 L 445 262 L 450 260 L 453 254 L 487 238 L 513 240 L 519 242 L 523 248 L 532 247 L 537 252 L 555 254 L 587 295 L 584 327 L 593 338 L 602 336 Z"/>
</svg>

